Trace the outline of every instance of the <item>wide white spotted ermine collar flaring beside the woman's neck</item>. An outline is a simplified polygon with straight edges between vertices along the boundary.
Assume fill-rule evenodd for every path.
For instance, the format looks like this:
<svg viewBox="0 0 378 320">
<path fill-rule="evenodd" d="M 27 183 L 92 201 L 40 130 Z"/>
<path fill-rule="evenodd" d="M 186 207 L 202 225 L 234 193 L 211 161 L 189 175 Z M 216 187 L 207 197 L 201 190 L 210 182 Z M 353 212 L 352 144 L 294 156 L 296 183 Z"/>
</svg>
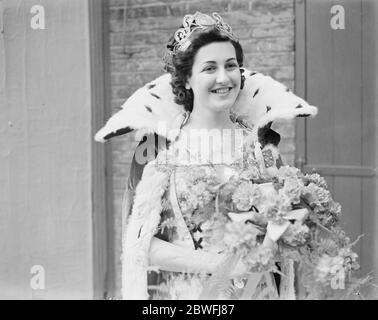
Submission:
<svg viewBox="0 0 378 320">
<path fill-rule="evenodd" d="M 244 89 L 231 112 L 253 126 L 256 136 L 258 128 L 270 121 L 317 114 L 317 107 L 309 105 L 273 78 L 247 69 L 244 75 Z M 170 74 L 164 74 L 138 89 L 97 132 L 95 140 L 105 142 L 107 135 L 127 127 L 139 130 L 139 135 L 155 132 L 174 140 L 184 119 L 184 108 L 174 102 L 170 81 Z M 297 108 L 298 105 L 302 107 Z"/>
</svg>

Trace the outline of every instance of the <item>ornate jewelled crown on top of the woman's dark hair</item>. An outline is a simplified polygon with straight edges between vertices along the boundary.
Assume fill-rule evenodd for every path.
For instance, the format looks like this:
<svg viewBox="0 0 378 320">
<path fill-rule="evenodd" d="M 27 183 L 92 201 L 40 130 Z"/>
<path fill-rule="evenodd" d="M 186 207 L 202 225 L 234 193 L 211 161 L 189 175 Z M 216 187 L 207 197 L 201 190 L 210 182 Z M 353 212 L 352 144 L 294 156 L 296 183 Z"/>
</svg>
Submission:
<svg viewBox="0 0 378 320">
<path fill-rule="evenodd" d="M 213 12 L 212 16 L 198 11 L 195 14 L 185 15 L 182 21 L 182 28 L 175 32 L 173 43 L 167 46 L 167 52 L 164 56 L 165 69 L 167 70 L 167 66 L 172 66 L 172 58 L 177 52 L 185 51 L 190 46 L 190 36 L 194 32 L 214 27 L 226 34 L 231 40 L 238 41 L 237 37 L 232 33 L 232 28 L 223 21 L 217 12 Z"/>
</svg>

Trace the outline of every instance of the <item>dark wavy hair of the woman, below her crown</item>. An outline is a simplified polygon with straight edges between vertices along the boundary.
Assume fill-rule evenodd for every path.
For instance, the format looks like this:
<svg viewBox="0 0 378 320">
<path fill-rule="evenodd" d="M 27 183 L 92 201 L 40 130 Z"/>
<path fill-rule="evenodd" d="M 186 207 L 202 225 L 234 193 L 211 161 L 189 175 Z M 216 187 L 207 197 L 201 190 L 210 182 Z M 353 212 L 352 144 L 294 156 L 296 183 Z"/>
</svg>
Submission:
<svg viewBox="0 0 378 320">
<path fill-rule="evenodd" d="M 193 91 L 186 89 L 185 84 L 187 79 L 192 75 L 192 67 L 194 58 L 200 48 L 212 42 L 231 42 L 235 48 L 236 60 L 241 68 L 243 66 L 244 54 L 239 42 L 230 39 L 227 35 L 217 28 L 210 28 L 206 31 L 194 33 L 191 36 L 191 44 L 184 52 L 178 52 L 172 59 L 172 66 L 167 69 L 172 74 L 172 91 L 175 95 L 175 102 L 183 105 L 185 111 L 191 112 L 193 110 Z M 170 39 L 167 47 L 173 44 L 173 37 Z M 241 89 L 244 85 L 243 69 Z"/>
</svg>

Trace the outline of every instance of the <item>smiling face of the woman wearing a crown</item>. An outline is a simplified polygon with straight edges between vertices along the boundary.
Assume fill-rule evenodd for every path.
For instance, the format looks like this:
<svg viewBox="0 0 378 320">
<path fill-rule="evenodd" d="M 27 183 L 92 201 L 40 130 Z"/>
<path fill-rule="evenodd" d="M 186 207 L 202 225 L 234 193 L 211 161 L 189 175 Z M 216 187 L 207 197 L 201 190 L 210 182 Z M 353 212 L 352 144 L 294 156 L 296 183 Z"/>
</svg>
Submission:
<svg viewBox="0 0 378 320">
<path fill-rule="evenodd" d="M 193 90 L 193 109 L 230 109 L 239 94 L 240 81 L 240 69 L 232 43 L 213 42 L 201 47 L 187 81 L 188 88 Z"/>
</svg>

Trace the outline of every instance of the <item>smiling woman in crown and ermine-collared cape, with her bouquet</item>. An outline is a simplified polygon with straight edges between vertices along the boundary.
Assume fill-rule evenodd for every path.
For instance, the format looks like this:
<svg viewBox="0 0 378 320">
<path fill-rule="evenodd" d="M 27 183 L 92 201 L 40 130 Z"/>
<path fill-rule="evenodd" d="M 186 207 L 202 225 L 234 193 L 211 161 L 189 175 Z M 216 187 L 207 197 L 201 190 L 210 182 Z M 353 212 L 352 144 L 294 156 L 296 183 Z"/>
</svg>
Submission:
<svg viewBox="0 0 378 320">
<path fill-rule="evenodd" d="M 242 69 L 238 40 L 215 13 L 186 15 L 165 62 L 169 74 L 138 89 L 96 134 L 104 141 L 132 128 L 169 141 L 155 141 L 147 164 L 138 162 L 141 141 L 133 158 L 140 170 L 132 167 L 125 192 L 123 298 L 359 294 L 365 280 L 353 278 L 357 255 L 340 204 L 319 174 L 282 165 L 270 129 L 317 108 Z"/>
</svg>

